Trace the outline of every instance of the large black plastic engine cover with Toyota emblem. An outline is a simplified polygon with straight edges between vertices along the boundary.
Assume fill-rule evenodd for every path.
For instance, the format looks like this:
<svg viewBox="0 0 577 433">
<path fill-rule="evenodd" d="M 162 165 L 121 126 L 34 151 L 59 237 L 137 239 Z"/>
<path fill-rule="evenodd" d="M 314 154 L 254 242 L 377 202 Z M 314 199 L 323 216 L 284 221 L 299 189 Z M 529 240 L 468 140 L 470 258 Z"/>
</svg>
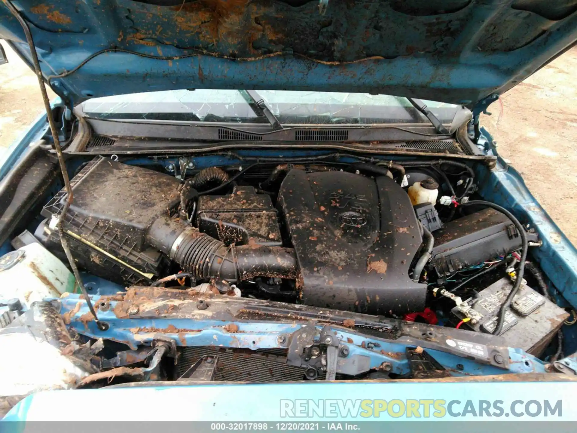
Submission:
<svg viewBox="0 0 577 433">
<path fill-rule="evenodd" d="M 279 204 L 305 304 L 369 314 L 424 309 L 426 285 L 409 278 L 421 232 L 409 196 L 392 179 L 291 170 Z"/>
</svg>

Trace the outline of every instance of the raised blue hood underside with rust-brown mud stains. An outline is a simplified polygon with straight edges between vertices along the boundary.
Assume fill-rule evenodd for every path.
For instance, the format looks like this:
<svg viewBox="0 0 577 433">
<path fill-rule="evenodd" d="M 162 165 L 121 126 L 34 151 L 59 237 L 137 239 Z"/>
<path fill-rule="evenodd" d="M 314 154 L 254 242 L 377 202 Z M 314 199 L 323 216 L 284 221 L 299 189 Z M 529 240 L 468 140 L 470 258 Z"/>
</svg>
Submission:
<svg viewBox="0 0 577 433">
<path fill-rule="evenodd" d="M 577 0 L 13 4 L 31 28 L 50 87 L 74 105 L 132 92 L 246 88 L 370 92 L 482 107 L 577 39 Z M 31 59 L 23 29 L 4 4 L 0 37 Z"/>
</svg>

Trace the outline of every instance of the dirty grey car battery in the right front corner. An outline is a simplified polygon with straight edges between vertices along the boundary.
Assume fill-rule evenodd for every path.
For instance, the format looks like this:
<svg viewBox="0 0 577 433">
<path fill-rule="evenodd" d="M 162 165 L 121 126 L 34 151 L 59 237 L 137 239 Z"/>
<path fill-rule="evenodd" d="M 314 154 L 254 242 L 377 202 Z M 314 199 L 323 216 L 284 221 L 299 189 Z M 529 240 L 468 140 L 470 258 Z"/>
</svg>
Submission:
<svg viewBox="0 0 577 433">
<path fill-rule="evenodd" d="M 483 318 L 475 324 L 466 322 L 461 328 L 492 334 L 497 326 L 501 305 L 512 288 L 513 283 L 508 278 L 501 278 L 481 290 L 478 298 L 464 301 L 481 313 Z M 455 307 L 451 312 L 462 320 L 464 315 L 459 309 Z M 534 356 L 540 356 L 568 317 L 569 313 L 563 308 L 557 307 L 529 286 L 524 286 L 519 289 L 511 306 L 505 312 L 503 330 L 499 335 L 505 339 L 509 347 L 520 348 Z"/>
</svg>

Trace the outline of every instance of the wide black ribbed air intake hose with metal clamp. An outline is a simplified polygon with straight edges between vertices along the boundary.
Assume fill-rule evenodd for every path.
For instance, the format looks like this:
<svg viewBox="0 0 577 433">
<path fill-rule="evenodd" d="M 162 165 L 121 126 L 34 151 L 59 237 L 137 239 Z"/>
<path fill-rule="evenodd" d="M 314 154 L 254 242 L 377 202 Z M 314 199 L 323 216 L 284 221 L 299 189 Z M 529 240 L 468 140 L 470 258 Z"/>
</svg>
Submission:
<svg viewBox="0 0 577 433">
<path fill-rule="evenodd" d="M 254 277 L 297 278 L 297 257 L 292 248 L 227 247 L 218 239 L 166 216 L 152 224 L 147 240 L 197 279 L 238 282 Z"/>
</svg>

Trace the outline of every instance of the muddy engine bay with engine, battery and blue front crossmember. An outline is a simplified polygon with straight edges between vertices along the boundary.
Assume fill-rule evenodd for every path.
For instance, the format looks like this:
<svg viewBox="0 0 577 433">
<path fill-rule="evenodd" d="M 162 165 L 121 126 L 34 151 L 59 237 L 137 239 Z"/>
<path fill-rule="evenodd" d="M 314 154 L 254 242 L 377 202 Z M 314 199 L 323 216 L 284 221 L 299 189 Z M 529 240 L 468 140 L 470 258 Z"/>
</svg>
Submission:
<svg viewBox="0 0 577 433">
<path fill-rule="evenodd" d="M 446 365 L 430 356 L 442 329 L 449 334 L 441 350 L 456 346 L 460 356 L 494 368 L 511 365 L 507 347 L 542 360 L 562 356 L 560 328 L 570 315 L 531 261 L 539 237 L 480 200 L 474 166 L 303 158 L 179 167 L 156 158 L 88 160 L 70 182 L 62 233 L 65 189 L 44 204 L 33 234 L 13 240 L 62 263 L 60 236 L 68 240 L 98 316 L 77 287 L 53 285 L 52 305 L 68 328 L 60 349 L 91 359 L 81 387 L 186 379 L 214 359 L 210 380 L 424 377 L 414 363 L 443 376 Z M 2 266 L 24 266 L 18 260 Z M 46 302 L 23 304 L 51 314 Z M 228 324 L 192 329 L 188 319 Z M 239 330 L 238 320 L 252 331 Z M 274 344 L 242 334 L 256 332 L 254 320 L 273 332 Z M 303 323 L 302 338 L 271 320 Z M 212 338 L 201 338 L 207 329 Z M 458 338 L 450 334 L 456 330 L 473 332 Z M 368 335 L 416 342 L 405 342 L 413 347 L 400 349 L 399 364 Z M 361 349 L 372 354 L 355 352 Z M 277 374 L 265 374 L 262 363 Z M 117 370 L 125 365 L 135 370 Z"/>
</svg>

